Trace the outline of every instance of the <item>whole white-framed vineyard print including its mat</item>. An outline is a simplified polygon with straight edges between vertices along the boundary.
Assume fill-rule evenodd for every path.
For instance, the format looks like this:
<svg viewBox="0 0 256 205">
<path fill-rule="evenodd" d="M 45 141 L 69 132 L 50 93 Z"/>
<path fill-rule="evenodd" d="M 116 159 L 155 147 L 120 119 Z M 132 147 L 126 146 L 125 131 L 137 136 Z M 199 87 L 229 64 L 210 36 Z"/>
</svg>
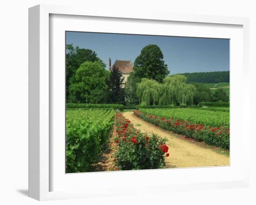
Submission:
<svg viewBox="0 0 256 205">
<path fill-rule="evenodd" d="M 29 196 L 248 186 L 248 22 L 30 8 Z"/>
</svg>

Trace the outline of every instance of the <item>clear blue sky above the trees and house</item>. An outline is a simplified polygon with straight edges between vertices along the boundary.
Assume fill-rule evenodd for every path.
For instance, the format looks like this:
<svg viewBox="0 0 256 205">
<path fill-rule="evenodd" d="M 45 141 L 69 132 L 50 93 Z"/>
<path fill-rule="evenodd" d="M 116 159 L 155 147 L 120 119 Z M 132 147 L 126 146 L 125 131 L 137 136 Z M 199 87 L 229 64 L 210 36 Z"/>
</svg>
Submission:
<svg viewBox="0 0 256 205">
<path fill-rule="evenodd" d="M 160 47 L 170 74 L 229 70 L 229 39 L 66 32 L 66 44 L 97 53 L 108 68 L 116 59 L 131 60 L 148 44 Z"/>
</svg>

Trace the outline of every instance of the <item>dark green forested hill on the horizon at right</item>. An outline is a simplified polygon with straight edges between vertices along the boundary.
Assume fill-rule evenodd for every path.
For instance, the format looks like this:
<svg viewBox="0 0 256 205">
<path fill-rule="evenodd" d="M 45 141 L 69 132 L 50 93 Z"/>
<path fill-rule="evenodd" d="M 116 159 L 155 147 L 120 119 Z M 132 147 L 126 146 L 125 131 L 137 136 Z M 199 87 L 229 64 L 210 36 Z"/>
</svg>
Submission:
<svg viewBox="0 0 256 205">
<path fill-rule="evenodd" d="M 229 83 L 229 71 L 181 73 L 188 83 Z"/>
</svg>

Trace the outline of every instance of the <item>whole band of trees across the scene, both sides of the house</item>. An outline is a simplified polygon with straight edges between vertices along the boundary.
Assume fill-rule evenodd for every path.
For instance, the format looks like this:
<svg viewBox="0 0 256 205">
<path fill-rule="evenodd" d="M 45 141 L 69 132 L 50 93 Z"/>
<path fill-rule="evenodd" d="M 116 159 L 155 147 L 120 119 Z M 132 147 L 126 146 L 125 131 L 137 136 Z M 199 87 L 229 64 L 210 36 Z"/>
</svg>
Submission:
<svg viewBox="0 0 256 205">
<path fill-rule="evenodd" d="M 119 68 L 106 70 L 106 64 L 94 51 L 66 45 L 67 102 L 134 106 L 229 101 L 222 89 L 212 91 L 200 83 L 188 83 L 188 77 L 183 74 L 168 74 L 168 66 L 157 45 L 142 48 L 125 86 Z"/>
</svg>

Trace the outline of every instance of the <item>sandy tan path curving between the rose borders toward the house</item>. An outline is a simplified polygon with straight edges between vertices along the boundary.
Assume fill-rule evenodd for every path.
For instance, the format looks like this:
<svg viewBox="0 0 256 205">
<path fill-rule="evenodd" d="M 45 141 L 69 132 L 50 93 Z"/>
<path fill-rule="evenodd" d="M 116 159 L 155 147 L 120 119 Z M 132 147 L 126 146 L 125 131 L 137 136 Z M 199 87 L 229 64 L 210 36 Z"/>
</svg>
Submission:
<svg viewBox="0 0 256 205">
<path fill-rule="evenodd" d="M 135 116 L 133 112 L 124 112 L 123 116 L 128 118 L 141 132 L 154 132 L 168 139 L 170 156 L 166 158 L 166 167 L 209 167 L 228 166 L 229 156 L 218 154 L 209 148 L 200 147 L 192 142 L 179 139 L 174 134 L 151 123 L 145 122 Z"/>
</svg>

